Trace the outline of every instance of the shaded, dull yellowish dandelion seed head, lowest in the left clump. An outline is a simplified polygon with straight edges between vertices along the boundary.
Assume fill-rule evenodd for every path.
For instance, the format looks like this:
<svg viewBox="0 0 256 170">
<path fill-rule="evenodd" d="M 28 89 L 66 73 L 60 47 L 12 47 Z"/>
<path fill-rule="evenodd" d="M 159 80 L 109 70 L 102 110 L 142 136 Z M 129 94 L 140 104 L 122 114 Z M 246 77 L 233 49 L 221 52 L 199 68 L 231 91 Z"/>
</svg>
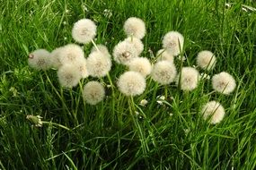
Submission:
<svg viewBox="0 0 256 170">
<path fill-rule="evenodd" d="M 105 89 L 98 81 L 89 81 L 84 85 L 83 98 L 90 105 L 96 105 L 105 97 Z"/>
</svg>

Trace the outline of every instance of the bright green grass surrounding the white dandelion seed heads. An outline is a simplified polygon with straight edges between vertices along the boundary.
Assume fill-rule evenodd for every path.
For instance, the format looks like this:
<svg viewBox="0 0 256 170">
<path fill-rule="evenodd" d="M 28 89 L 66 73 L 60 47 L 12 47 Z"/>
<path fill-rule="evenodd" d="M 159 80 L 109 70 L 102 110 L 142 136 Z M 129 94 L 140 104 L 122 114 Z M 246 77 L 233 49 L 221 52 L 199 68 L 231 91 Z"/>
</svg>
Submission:
<svg viewBox="0 0 256 170">
<path fill-rule="evenodd" d="M 242 4 L 256 4 L 232 1 L 226 8 L 225 3 L 1 0 L 0 169 L 255 169 L 256 12 L 244 12 Z M 110 18 L 104 9 L 112 11 Z M 178 30 L 185 37 L 183 65 L 195 64 L 200 50 L 211 50 L 217 64 L 209 74 L 234 75 L 234 93 L 207 96 L 210 81 L 191 93 L 172 84 L 167 87 L 169 98 L 159 105 L 155 97 L 164 95 L 164 87 L 156 88 L 148 79 L 145 93 L 134 98 L 135 107 L 130 108 L 140 112 L 136 116 L 130 115 L 130 101 L 118 90 L 116 98 L 107 89 L 102 103 L 84 105 L 79 86 L 62 89 L 56 71 L 34 71 L 27 64 L 37 48 L 51 51 L 74 42 L 73 24 L 84 17 L 97 22 L 96 43 L 107 43 L 112 51 L 125 38 L 122 26 L 130 16 L 146 21 L 143 56 L 150 58 L 148 50 L 155 54 L 163 35 Z M 86 55 L 91 47 L 85 47 Z M 176 64 L 181 66 L 178 60 Z M 111 79 L 116 82 L 122 72 L 123 67 L 114 64 Z M 95 79 L 81 85 L 89 80 Z M 143 98 L 149 101 L 145 107 L 138 105 Z M 216 125 L 199 115 L 201 106 L 213 99 L 226 111 Z M 26 115 L 41 115 L 52 123 L 31 127 Z"/>
</svg>

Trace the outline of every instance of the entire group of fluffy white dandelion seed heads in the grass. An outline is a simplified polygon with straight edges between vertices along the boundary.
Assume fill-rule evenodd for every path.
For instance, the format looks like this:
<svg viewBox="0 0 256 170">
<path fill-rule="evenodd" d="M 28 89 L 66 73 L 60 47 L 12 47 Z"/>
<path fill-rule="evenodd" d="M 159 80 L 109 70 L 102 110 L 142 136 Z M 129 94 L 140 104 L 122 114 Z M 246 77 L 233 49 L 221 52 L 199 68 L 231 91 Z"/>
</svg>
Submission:
<svg viewBox="0 0 256 170">
<path fill-rule="evenodd" d="M 100 78 L 108 75 L 112 68 L 112 59 L 117 65 L 124 64 L 126 70 L 120 72 L 117 78 L 116 86 L 120 93 L 128 97 L 141 95 L 146 90 L 146 79 L 151 79 L 164 85 L 166 88 L 173 83 L 179 85 L 181 90 L 192 91 L 198 88 L 199 81 L 205 81 L 200 76 L 199 71 L 194 67 L 183 66 L 176 69 L 175 58 L 181 58 L 183 55 L 184 37 L 178 31 L 169 31 L 163 36 L 163 48 L 159 49 L 153 61 L 145 55 L 143 38 L 146 36 L 146 24 L 137 17 L 128 18 L 124 22 L 123 29 L 126 38 L 119 41 L 113 47 L 112 53 L 108 47 L 99 44 L 96 45 L 93 38 L 96 36 L 97 26 L 94 21 L 82 19 L 76 21 L 71 31 L 72 38 L 76 43 L 86 46 L 93 43 L 88 57 L 84 54 L 84 47 L 77 44 L 67 44 L 63 47 L 57 47 L 51 53 L 46 49 L 38 49 L 29 55 L 29 65 L 37 70 L 57 69 L 57 79 L 59 84 L 65 88 L 77 86 L 81 79 L 90 77 Z M 152 52 L 153 54 L 153 52 Z M 197 65 L 201 68 L 201 75 L 206 76 L 216 65 L 216 55 L 208 50 L 200 51 L 196 58 Z M 115 65 L 116 66 L 116 65 Z M 206 73 L 207 72 L 207 73 Z M 209 75 L 207 75 L 209 77 Z M 110 80 L 109 80 L 110 81 Z M 152 81 L 152 82 L 154 82 Z M 222 94 L 231 94 L 236 83 L 234 77 L 228 72 L 220 72 L 212 77 L 212 88 Z M 83 81 L 82 81 L 83 82 Z M 105 97 L 105 89 L 99 81 L 86 81 L 82 96 L 84 102 L 89 105 L 97 105 Z M 110 81 L 110 86 L 115 86 Z M 108 86 L 107 86 L 108 87 Z M 114 87 L 112 87 L 114 88 Z M 162 100 L 165 99 L 161 97 Z M 163 101 L 159 100 L 159 103 Z M 146 106 L 147 100 L 143 99 L 140 106 Z M 210 101 L 200 111 L 204 120 L 209 123 L 220 123 L 225 116 L 225 109 L 220 103 Z"/>
</svg>

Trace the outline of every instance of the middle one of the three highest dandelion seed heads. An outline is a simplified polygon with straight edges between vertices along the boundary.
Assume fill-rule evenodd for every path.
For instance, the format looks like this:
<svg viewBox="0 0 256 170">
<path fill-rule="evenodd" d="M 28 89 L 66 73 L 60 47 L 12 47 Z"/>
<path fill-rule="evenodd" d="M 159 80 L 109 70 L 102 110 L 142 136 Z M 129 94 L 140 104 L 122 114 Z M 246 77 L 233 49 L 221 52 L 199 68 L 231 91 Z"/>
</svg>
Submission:
<svg viewBox="0 0 256 170">
<path fill-rule="evenodd" d="M 130 17 L 124 23 L 124 30 L 128 37 L 142 39 L 146 34 L 145 22 L 136 17 Z"/>
</svg>

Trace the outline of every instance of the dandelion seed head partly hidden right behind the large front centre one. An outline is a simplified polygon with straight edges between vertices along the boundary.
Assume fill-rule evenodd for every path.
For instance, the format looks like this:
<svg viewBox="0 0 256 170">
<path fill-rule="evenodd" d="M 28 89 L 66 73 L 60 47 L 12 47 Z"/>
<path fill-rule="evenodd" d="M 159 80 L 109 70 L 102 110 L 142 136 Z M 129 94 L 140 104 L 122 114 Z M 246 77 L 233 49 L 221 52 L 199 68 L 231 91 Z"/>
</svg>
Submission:
<svg viewBox="0 0 256 170">
<path fill-rule="evenodd" d="M 151 63 L 147 58 L 137 57 L 128 63 L 129 71 L 139 72 L 146 77 L 151 72 Z"/>
</svg>

